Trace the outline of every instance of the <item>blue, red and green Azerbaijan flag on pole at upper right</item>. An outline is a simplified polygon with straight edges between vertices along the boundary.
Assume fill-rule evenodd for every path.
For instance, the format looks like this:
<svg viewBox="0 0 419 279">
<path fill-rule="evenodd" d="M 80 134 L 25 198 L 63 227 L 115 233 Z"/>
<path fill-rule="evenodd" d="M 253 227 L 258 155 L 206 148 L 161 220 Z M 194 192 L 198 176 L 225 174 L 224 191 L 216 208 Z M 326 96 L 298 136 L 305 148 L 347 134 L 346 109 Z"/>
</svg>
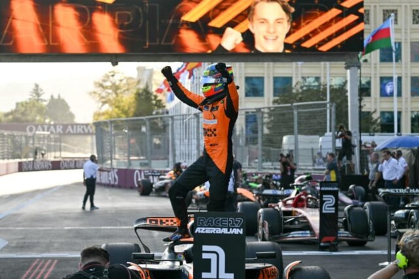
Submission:
<svg viewBox="0 0 419 279">
<path fill-rule="evenodd" d="M 389 17 L 364 40 L 364 51 L 362 52 L 362 56 L 380 48 L 393 47 L 392 38 L 393 20 Z"/>
</svg>

